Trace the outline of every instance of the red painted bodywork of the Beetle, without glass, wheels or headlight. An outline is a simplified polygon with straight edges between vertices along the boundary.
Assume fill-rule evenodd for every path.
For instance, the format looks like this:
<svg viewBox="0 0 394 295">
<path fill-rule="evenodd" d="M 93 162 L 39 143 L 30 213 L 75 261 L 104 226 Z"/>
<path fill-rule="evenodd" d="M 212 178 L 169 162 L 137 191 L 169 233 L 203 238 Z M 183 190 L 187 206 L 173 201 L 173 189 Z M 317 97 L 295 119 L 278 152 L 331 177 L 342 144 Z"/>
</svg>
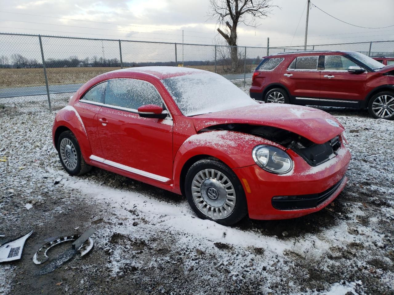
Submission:
<svg viewBox="0 0 394 295">
<path fill-rule="evenodd" d="M 266 125 L 291 131 L 322 144 L 340 135 L 344 131 L 343 126 L 326 112 L 278 104 L 251 105 L 187 117 L 182 115 L 161 82 L 165 77 L 183 74 L 185 73 L 176 70 L 171 73 L 160 72 L 160 68 L 154 71 L 130 68 L 95 77 L 78 90 L 67 107 L 56 114 L 52 129 L 55 146 L 55 134 L 60 130 L 58 128 L 68 128 L 76 135 L 88 164 L 177 194 L 182 193 L 182 169 L 186 164 L 191 164 L 190 159 L 215 157 L 229 166 L 241 180 L 249 216 L 256 219 L 293 218 L 315 212 L 332 201 L 343 189 L 346 181 L 326 203 L 316 208 L 292 211 L 273 208 L 271 198 L 275 195 L 320 193 L 338 182 L 345 175 L 350 160 L 350 153 L 342 140 L 336 157 L 311 167 L 291 149 L 262 137 L 203 129 L 230 123 Z M 162 97 L 171 117 L 142 118 L 137 110 L 80 101 L 91 87 L 116 78 L 140 79 L 151 83 Z M 255 79 L 260 79 L 260 74 Z M 144 107 L 142 111 L 147 109 L 149 107 Z M 338 127 L 333 122 L 329 123 L 330 120 L 337 123 Z M 253 148 L 259 144 L 286 151 L 294 161 L 294 169 L 284 175 L 261 169 L 251 155 Z"/>
</svg>

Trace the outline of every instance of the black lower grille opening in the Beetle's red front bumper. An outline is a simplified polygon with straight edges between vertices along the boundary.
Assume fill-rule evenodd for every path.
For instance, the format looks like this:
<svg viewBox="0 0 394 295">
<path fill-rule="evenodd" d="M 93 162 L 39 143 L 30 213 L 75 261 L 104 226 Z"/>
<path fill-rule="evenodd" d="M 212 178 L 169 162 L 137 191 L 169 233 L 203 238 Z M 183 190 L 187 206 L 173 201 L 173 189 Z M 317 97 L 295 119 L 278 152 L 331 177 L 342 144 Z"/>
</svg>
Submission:
<svg viewBox="0 0 394 295">
<path fill-rule="evenodd" d="M 271 204 L 278 210 L 300 210 L 315 208 L 331 197 L 345 177 L 320 194 L 310 195 L 280 195 L 271 200 Z"/>
</svg>

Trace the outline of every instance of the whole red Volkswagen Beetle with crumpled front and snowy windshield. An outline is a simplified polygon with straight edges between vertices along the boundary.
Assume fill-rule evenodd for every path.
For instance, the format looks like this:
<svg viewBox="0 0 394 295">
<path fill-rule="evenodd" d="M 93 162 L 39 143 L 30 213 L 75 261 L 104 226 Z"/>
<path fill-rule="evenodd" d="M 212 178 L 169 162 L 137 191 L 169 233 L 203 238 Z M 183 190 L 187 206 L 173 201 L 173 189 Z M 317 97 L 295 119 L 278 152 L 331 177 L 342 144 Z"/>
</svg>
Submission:
<svg viewBox="0 0 394 295">
<path fill-rule="evenodd" d="M 218 74 L 141 67 L 85 83 L 52 133 L 69 174 L 119 173 L 186 195 L 199 217 L 231 225 L 333 201 L 350 161 L 343 131 L 326 112 L 257 103 Z"/>
</svg>

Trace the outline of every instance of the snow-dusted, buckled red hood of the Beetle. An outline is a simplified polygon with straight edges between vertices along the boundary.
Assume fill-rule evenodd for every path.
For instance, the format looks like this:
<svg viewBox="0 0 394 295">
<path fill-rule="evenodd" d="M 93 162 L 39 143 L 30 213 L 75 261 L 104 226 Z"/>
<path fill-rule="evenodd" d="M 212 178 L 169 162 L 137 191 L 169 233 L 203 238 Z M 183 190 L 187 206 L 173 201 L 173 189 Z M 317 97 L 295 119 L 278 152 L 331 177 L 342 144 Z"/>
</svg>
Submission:
<svg viewBox="0 0 394 295">
<path fill-rule="evenodd" d="M 344 131 L 342 124 L 327 112 L 278 103 L 249 105 L 220 112 L 193 116 L 196 131 L 219 124 L 264 125 L 301 135 L 323 144 Z"/>
</svg>

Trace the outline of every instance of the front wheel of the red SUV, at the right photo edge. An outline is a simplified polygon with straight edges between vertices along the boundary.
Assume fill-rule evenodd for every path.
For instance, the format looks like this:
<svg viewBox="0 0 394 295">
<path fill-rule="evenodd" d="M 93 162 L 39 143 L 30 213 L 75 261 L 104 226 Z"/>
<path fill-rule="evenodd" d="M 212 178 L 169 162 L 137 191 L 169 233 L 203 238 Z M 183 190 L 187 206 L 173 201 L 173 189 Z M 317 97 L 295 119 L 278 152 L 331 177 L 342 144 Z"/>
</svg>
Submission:
<svg viewBox="0 0 394 295">
<path fill-rule="evenodd" d="M 394 92 L 382 91 L 372 96 L 368 111 L 372 118 L 394 120 Z"/>
</svg>

